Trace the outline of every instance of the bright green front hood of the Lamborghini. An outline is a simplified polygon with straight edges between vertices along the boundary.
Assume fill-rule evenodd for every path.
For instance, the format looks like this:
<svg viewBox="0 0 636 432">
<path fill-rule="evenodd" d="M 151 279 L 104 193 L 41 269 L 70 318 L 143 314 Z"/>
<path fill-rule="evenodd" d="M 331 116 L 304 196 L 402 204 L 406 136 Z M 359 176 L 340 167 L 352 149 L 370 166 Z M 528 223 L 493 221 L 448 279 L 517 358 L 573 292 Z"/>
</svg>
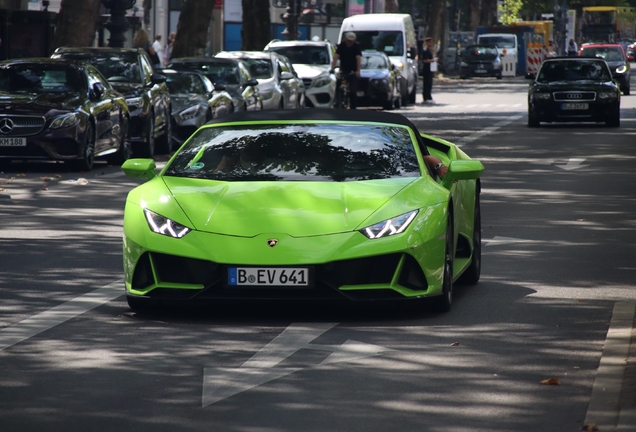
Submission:
<svg viewBox="0 0 636 432">
<path fill-rule="evenodd" d="M 416 179 L 219 182 L 163 177 L 195 229 L 244 237 L 263 233 L 306 237 L 353 231 Z"/>
</svg>

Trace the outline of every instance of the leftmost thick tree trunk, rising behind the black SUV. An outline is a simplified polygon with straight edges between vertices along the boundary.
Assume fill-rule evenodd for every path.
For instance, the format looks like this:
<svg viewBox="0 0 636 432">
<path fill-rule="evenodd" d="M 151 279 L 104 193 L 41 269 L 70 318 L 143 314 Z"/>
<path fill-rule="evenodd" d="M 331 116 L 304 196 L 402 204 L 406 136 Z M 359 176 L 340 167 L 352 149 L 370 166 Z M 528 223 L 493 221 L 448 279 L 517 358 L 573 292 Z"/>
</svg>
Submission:
<svg viewBox="0 0 636 432">
<path fill-rule="evenodd" d="M 101 6 L 101 0 L 62 0 L 53 47 L 93 45 Z"/>
</svg>

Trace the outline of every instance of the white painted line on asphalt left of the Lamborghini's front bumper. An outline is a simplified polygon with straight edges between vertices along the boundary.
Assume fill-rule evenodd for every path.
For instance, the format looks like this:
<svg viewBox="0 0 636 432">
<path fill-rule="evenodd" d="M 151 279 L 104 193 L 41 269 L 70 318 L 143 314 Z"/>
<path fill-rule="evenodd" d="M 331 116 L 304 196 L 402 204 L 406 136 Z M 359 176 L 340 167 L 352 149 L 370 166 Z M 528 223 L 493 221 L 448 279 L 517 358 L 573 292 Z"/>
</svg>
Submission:
<svg viewBox="0 0 636 432">
<path fill-rule="evenodd" d="M 123 287 L 122 279 L 0 329 L 0 351 L 120 297 Z"/>
</svg>

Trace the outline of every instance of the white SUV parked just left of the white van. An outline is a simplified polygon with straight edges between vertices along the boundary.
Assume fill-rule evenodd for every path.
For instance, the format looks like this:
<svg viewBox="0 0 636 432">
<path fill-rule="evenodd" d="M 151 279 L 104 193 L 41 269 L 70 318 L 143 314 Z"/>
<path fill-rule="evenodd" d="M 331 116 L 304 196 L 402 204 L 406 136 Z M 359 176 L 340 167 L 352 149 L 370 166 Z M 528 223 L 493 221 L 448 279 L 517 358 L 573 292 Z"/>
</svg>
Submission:
<svg viewBox="0 0 636 432">
<path fill-rule="evenodd" d="M 336 47 L 325 41 L 273 40 L 266 52 L 276 52 L 289 58 L 305 84 L 305 106 L 332 108 L 336 94 L 336 76 L 330 73 Z"/>
</svg>

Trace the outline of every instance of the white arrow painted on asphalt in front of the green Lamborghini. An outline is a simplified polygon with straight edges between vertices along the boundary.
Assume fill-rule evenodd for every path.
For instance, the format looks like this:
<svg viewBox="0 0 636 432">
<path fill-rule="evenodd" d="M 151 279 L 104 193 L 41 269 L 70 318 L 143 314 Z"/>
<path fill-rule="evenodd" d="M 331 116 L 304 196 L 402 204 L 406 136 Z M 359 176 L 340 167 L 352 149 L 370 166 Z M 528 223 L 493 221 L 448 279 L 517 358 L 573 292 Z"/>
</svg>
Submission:
<svg viewBox="0 0 636 432">
<path fill-rule="evenodd" d="M 323 360 L 321 365 L 374 357 L 385 351 L 394 351 L 352 340 L 342 345 L 310 343 L 336 325 L 337 323 L 292 324 L 240 368 L 204 368 L 202 407 L 301 370 L 276 367 L 301 349 L 331 351 L 331 355 Z"/>
</svg>

